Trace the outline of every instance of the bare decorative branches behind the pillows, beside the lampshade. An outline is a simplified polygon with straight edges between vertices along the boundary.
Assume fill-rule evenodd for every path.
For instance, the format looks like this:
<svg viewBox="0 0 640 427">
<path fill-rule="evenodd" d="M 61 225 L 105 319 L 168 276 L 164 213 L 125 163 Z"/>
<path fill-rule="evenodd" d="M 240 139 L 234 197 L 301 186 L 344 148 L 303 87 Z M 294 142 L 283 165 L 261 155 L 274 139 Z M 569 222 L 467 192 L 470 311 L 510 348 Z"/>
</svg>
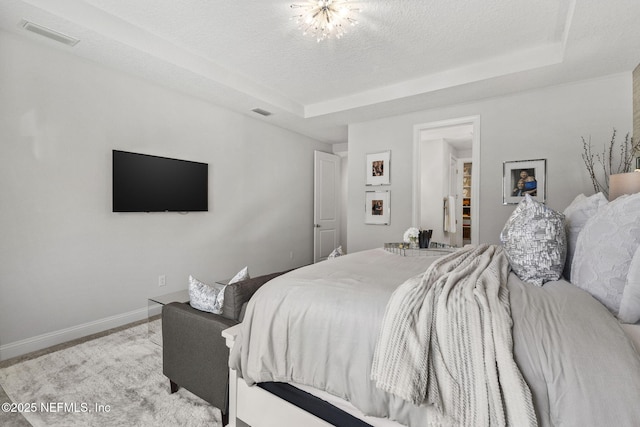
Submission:
<svg viewBox="0 0 640 427">
<path fill-rule="evenodd" d="M 611 141 L 604 144 L 602 152 L 594 152 L 591 145 L 591 136 L 582 138 L 582 160 L 587 167 L 587 172 L 596 193 L 602 192 L 609 197 L 609 176 L 618 173 L 632 171 L 633 158 L 640 149 L 640 140 L 634 141 L 629 133 L 623 142 L 616 147 L 616 130 L 613 129 Z"/>
</svg>

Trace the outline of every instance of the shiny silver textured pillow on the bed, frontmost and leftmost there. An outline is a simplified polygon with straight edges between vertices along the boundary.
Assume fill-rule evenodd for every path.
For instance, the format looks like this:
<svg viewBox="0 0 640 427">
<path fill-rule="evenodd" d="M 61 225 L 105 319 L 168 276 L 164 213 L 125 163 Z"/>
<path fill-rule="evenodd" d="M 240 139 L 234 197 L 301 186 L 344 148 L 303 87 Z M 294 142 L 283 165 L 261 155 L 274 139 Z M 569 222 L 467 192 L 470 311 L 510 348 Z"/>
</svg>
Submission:
<svg viewBox="0 0 640 427">
<path fill-rule="evenodd" d="M 525 195 L 500 233 L 511 269 L 542 286 L 558 280 L 567 253 L 564 215 Z"/>
</svg>

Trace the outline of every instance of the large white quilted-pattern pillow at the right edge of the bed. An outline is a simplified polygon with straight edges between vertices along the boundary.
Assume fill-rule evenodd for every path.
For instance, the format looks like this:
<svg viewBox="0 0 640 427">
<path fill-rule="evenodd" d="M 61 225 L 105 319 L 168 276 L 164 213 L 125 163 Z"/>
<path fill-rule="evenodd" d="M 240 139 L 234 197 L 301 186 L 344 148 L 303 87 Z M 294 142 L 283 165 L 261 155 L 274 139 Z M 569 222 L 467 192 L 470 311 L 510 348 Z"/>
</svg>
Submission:
<svg viewBox="0 0 640 427">
<path fill-rule="evenodd" d="M 593 295 L 619 315 L 631 261 L 640 247 L 640 193 L 620 196 L 585 224 L 578 236 L 571 266 L 571 283 Z M 636 281 L 635 268 L 629 279 Z M 636 286 L 630 283 L 625 318 L 631 314 Z"/>
</svg>

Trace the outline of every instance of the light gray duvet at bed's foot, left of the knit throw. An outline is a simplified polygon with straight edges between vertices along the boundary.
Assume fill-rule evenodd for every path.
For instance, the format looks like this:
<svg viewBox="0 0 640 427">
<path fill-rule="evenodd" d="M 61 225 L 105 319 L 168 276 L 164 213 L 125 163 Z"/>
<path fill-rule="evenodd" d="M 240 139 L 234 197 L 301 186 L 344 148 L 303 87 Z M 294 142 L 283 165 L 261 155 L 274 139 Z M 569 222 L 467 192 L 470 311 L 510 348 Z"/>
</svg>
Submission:
<svg viewBox="0 0 640 427">
<path fill-rule="evenodd" d="M 391 293 L 424 273 L 438 256 L 404 257 L 375 249 L 270 281 L 247 306 L 231 367 L 250 384 L 310 385 L 367 415 L 418 422 L 420 411 L 407 411 L 402 399 L 376 389 L 369 379 L 371 358 Z"/>
</svg>

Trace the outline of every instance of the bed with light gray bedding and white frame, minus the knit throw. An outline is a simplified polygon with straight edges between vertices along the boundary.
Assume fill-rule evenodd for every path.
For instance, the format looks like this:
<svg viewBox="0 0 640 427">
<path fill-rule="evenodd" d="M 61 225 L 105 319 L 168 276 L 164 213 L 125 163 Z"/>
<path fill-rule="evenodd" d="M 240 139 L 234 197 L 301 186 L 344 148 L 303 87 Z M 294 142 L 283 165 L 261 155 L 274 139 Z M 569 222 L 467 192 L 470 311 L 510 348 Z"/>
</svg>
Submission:
<svg viewBox="0 0 640 427">
<path fill-rule="evenodd" d="M 229 425 L 243 425 L 240 420 L 253 427 L 469 425 L 443 418 L 432 404 L 385 391 L 372 373 L 380 363 L 376 355 L 390 301 L 399 288 L 447 257 L 372 249 L 303 267 L 264 285 L 249 302 L 244 321 L 225 333 L 231 348 Z M 638 425 L 640 355 L 634 340 L 640 348 L 640 325 L 622 325 L 592 293 L 567 280 L 535 286 L 520 276 L 513 271 L 505 276 L 512 339 L 507 345 L 535 411 L 529 424 Z M 338 408 L 332 415 L 338 418 L 312 414 L 298 403 L 300 396 L 278 391 L 280 385 L 299 391 L 303 401 L 328 402 Z M 510 407 L 513 392 L 504 390 L 498 394 Z"/>
</svg>

